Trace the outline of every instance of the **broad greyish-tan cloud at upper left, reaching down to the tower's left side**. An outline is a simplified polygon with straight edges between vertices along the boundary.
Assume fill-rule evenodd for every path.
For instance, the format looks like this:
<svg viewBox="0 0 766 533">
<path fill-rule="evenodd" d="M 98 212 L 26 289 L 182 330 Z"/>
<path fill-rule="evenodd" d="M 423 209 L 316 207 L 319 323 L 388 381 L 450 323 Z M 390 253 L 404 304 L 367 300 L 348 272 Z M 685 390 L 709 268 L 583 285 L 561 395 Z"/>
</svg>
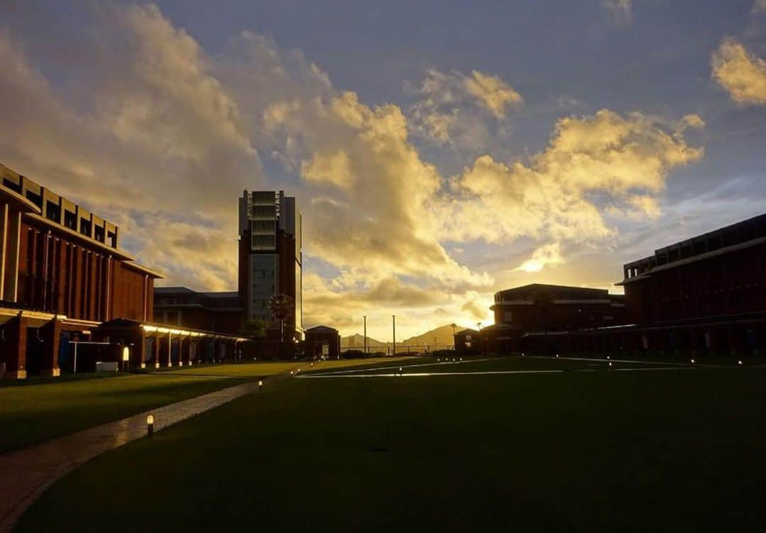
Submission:
<svg viewBox="0 0 766 533">
<path fill-rule="evenodd" d="M 234 246 L 231 192 L 262 179 L 237 104 L 211 59 L 155 6 L 94 16 L 72 52 L 83 68 L 76 94 L 53 87 L 23 41 L 0 33 L 4 163 L 121 225 L 124 244 L 169 281 L 230 287 L 231 255 L 216 243 Z"/>
</svg>

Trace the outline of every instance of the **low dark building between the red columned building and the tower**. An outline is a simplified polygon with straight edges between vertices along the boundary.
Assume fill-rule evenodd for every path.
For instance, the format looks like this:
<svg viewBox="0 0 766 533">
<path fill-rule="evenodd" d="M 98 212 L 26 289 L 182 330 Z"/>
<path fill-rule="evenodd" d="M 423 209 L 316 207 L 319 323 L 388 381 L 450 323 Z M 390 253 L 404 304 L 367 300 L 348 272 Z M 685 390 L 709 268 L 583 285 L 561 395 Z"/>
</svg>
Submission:
<svg viewBox="0 0 766 533">
<path fill-rule="evenodd" d="M 186 287 L 157 287 L 154 290 L 155 320 L 221 334 L 239 334 L 244 317 L 236 291 L 197 292 Z"/>
</svg>

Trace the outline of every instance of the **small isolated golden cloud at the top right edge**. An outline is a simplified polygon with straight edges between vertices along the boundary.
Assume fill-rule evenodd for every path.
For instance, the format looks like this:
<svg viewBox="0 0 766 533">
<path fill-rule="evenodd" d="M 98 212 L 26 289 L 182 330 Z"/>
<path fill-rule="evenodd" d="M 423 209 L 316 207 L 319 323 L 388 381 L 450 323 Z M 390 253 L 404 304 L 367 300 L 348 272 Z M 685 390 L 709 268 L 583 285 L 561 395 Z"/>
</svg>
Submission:
<svg viewBox="0 0 766 533">
<path fill-rule="evenodd" d="M 712 54 L 712 77 L 738 104 L 766 104 L 766 61 L 734 39 Z"/>
</svg>

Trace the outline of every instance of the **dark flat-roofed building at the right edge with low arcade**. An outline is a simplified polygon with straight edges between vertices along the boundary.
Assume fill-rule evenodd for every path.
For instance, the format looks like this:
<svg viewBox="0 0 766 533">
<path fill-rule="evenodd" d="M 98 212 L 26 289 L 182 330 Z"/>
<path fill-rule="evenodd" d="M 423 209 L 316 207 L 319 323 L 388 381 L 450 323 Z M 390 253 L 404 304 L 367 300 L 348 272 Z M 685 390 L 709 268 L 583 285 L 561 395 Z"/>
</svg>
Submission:
<svg viewBox="0 0 766 533">
<path fill-rule="evenodd" d="M 624 265 L 627 322 L 558 339 L 607 354 L 754 355 L 766 348 L 766 214 L 665 246 Z M 525 347 L 542 350 L 539 336 Z"/>
</svg>

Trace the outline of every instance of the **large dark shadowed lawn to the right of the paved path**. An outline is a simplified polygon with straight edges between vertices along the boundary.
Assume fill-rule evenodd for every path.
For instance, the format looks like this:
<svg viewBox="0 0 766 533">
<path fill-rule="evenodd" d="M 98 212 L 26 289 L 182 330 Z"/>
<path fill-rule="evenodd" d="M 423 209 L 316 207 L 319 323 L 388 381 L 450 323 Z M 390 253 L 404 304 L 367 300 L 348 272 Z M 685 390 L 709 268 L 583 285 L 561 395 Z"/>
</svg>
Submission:
<svg viewBox="0 0 766 533">
<path fill-rule="evenodd" d="M 322 367 L 113 450 L 57 482 L 17 531 L 764 523 L 766 369 L 423 362 L 401 363 L 404 377 L 316 377 L 339 375 Z"/>
</svg>

